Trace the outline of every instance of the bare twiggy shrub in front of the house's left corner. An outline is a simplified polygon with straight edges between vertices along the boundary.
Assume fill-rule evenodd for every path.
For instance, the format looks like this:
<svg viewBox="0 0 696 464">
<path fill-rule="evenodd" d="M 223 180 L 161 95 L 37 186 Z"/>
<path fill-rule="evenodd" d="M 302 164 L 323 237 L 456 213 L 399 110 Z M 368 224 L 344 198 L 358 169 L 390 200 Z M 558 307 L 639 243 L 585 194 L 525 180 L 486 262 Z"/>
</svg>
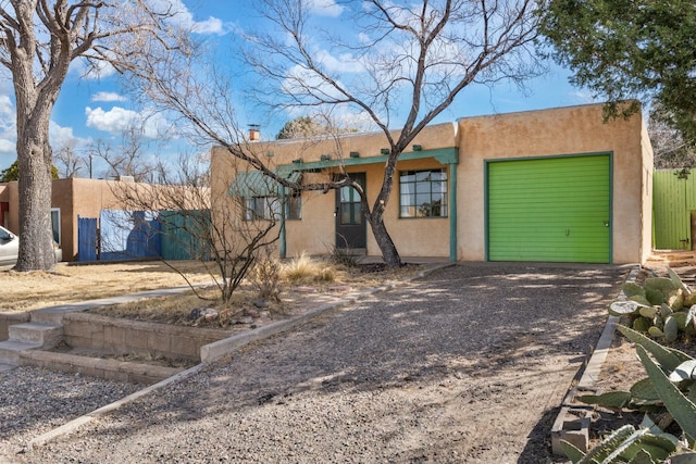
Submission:
<svg viewBox="0 0 696 464">
<path fill-rule="evenodd" d="M 247 163 L 235 158 L 228 161 L 237 178 L 247 179 L 237 181 L 234 189 L 253 197 L 254 189 L 269 188 L 239 175 L 248 168 Z M 206 263 L 222 301 L 228 302 L 249 269 L 268 260 L 268 250 L 278 240 L 276 225 L 283 206 L 279 199 L 268 197 L 257 202 L 243 198 L 228 201 L 227 189 L 211 189 L 211 180 L 227 185 L 227 179 L 211 175 L 215 174 L 207 164 L 182 158 L 176 175 L 163 178 L 161 185 L 119 183 L 113 191 L 126 210 L 154 212 L 161 227 L 157 234 L 186 258 Z M 273 183 L 270 178 L 266 181 Z M 165 263 L 178 272 L 175 262 Z"/>
</svg>

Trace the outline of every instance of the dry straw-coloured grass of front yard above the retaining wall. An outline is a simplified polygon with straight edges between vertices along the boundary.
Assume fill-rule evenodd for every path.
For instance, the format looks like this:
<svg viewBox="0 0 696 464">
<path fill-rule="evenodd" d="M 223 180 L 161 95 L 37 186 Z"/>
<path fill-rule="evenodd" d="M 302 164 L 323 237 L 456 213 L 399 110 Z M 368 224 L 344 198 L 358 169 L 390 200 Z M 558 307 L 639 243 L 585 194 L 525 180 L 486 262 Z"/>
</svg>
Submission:
<svg viewBox="0 0 696 464">
<path fill-rule="evenodd" d="M 212 280 L 206 265 L 200 262 L 176 262 L 191 283 Z M 268 312 L 271 318 L 291 315 L 306 302 L 293 294 L 293 287 L 312 286 L 315 299 L 330 292 L 328 287 L 346 285 L 352 288 L 377 287 L 388 281 L 401 280 L 420 271 L 420 266 L 387 269 L 383 265 L 345 266 L 322 259 L 301 255 L 282 263 L 278 287 L 279 301 L 268 301 L 268 306 L 256 309 L 259 291 L 252 285 L 244 285 L 232 301 L 223 304 L 216 287 L 179 293 L 176 297 L 153 298 L 133 303 L 107 306 L 94 312 L 112 317 L 175 325 L 229 327 L 245 311 Z M 185 286 L 186 280 L 177 272 L 161 262 L 119 263 L 94 265 L 60 265 L 55 273 L 0 272 L 0 312 L 21 312 L 55 304 L 71 303 L 145 290 Z M 199 298 L 199 297 L 202 297 Z M 214 309 L 221 317 L 214 323 L 191 321 L 192 309 Z"/>
</svg>

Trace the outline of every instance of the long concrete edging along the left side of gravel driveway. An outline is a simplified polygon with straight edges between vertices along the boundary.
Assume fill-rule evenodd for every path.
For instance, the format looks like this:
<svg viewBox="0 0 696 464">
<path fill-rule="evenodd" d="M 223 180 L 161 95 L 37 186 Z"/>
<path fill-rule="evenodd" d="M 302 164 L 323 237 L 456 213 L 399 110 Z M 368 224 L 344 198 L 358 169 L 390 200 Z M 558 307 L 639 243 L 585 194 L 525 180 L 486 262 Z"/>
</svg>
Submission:
<svg viewBox="0 0 696 464">
<path fill-rule="evenodd" d="M 77 417 L 58 428 L 54 428 L 46 434 L 42 434 L 36 438 L 34 438 L 32 441 L 29 441 L 29 447 L 35 447 L 35 446 L 41 446 L 41 444 L 46 444 L 47 442 L 53 440 L 54 438 L 61 437 L 63 435 L 70 434 L 72 431 L 75 431 L 76 429 L 78 429 L 79 427 L 82 427 L 85 424 L 90 423 L 92 419 L 100 417 L 103 414 L 107 414 L 111 411 L 115 411 L 119 407 L 123 406 L 124 404 L 128 404 L 135 400 L 137 400 L 140 397 L 144 397 L 148 393 L 151 393 L 152 391 L 157 391 L 161 388 L 164 388 L 171 384 L 184 380 L 188 377 L 191 377 L 192 375 L 197 374 L 203 366 L 206 363 L 210 363 L 212 361 L 215 360 L 220 360 L 223 356 L 225 356 L 226 354 L 229 354 L 232 352 L 234 352 L 235 350 L 238 350 L 239 348 L 251 343 L 253 341 L 257 340 L 261 340 L 263 338 L 270 337 L 272 335 L 275 334 L 279 334 L 282 331 L 288 330 L 295 326 L 297 326 L 298 324 L 315 317 L 320 314 L 323 314 L 327 311 L 340 308 L 345 304 L 348 303 L 352 303 L 357 300 L 360 300 L 362 298 L 365 298 L 370 294 L 374 294 L 374 293 L 378 293 L 382 291 L 387 291 L 387 290 L 391 290 L 393 288 L 396 288 L 398 286 L 408 284 L 412 280 L 419 279 L 419 278 L 423 278 L 426 275 L 445 268 L 445 267 L 449 267 L 449 266 L 453 266 L 457 263 L 453 262 L 448 262 L 448 263 L 442 263 L 442 264 L 435 264 L 435 265 L 430 265 L 427 266 L 425 269 L 421 271 L 420 273 L 418 273 L 417 275 L 409 277 L 407 279 L 403 280 L 399 280 L 397 283 L 393 283 L 393 284 L 388 284 L 388 285 L 384 285 L 381 287 L 375 287 L 375 288 L 371 288 L 369 290 L 365 290 L 363 292 L 360 292 L 357 296 L 347 298 L 343 301 L 336 301 L 334 303 L 327 303 L 324 304 L 320 308 L 318 308 L 314 311 L 311 311 L 307 314 L 302 314 L 299 316 L 296 316 L 294 318 L 290 319 L 286 319 L 286 321 L 278 321 L 276 323 L 263 326 L 263 327 L 259 327 L 257 329 L 250 330 L 248 333 L 245 334 L 237 334 L 234 335 L 232 337 L 228 337 L 226 339 L 220 340 L 220 341 L 215 341 L 213 343 L 207 344 L 204 347 L 201 348 L 201 364 L 198 364 L 191 368 L 188 368 L 179 374 L 176 374 L 170 378 L 166 378 L 160 383 L 157 383 L 154 385 L 151 385 L 147 388 L 144 388 L 142 390 L 138 390 L 135 393 L 132 393 L 119 401 L 114 401 L 111 404 L 107 404 L 105 406 L 99 407 L 90 413 L 87 413 L 80 417 Z"/>
</svg>

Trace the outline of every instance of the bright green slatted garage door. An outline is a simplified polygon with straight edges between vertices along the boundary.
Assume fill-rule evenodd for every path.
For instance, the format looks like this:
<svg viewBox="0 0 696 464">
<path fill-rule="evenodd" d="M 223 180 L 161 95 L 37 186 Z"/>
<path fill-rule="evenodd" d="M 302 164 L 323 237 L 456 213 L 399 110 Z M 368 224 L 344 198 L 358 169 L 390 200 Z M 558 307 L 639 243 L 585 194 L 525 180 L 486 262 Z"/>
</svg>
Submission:
<svg viewBox="0 0 696 464">
<path fill-rule="evenodd" d="M 609 154 L 487 164 L 488 260 L 611 262 Z"/>
</svg>

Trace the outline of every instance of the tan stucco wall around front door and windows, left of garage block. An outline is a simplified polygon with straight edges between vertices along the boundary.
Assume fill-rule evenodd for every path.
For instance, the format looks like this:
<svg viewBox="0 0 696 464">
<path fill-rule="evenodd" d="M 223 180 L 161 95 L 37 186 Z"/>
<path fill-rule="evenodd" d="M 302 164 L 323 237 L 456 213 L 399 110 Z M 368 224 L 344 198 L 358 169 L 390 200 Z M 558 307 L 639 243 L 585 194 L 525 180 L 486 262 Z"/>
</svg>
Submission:
<svg viewBox="0 0 696 464">
<path fill-rule="evenodd" d="M 455 147 L 457 126 L 452 123 L 437 124 L 424 129 L 412 145 L 420 145 L 423 150 L 435 150 Z M 395 135 L 396 137 L 396 135 Z M 247 152 L 261 159 L 270 167 L 291 164 L 293 160 L 301 159 L 304 163 L 320 161 L 322 154 L 328 154 L 332 160 L 350 159 L 350 152 L 358 152 L 360 159 L 380 156 L 380 150 L 387 148 L 384 134 L 348 134 L 341 136 L 340 143 L 336 139 L 326 140 L 278 140 L 273 142 L 250 143 Z M 410 151 L 411 149 L 407 150 Z M 268 156 L 273 153 L 273 156 Z M 414 168 L 446 167 L 433 159 L 406 161 L 398 165 L 397 171 Z M 226 150 L 216 147 L 212 150 L 211 173 L 213 179 L 213 198 L 220 200 L 220 192 L 226 191 L 235 178 L 236 171 L 247 171 L 248 167 L 235 162 Z M 304 184 L 320 183 L 339 173 L 336 166 L 322 173 L 304 174 Z M 365 173 L 366 192 L 372 204 L 382 187 L 384 164 L 363 164 L 348 166 L 348 173 Z M 335 209 L 336 192 L 306 191 L 302 193 L 302 218 L 286 222 L 286 254 L 297 255 L 302 252 L 310 254 L 327 254 L 335 243 Z M 385 221 L 397 249 L 403 256 L 447 256 L 449 253 L 449 220 L 448 218 L 399 218 L 398 180 L 391 191 L 389 203 L 385 212 Z M 366 227 L 368 254 L 380 255 L 380 249 L 374 236 Z"/>
</svg>

